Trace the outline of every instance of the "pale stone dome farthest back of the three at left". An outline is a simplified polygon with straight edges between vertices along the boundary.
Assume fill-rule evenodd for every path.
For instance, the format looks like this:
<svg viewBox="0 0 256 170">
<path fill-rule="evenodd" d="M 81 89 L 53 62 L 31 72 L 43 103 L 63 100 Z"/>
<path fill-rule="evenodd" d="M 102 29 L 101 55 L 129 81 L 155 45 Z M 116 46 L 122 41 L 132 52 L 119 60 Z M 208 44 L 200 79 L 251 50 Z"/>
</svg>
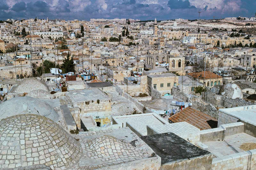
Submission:
<svg viewBox="0 0 256 170">
<path fill-rule="evenodd" d="M 34 90 L 49 91 L 46 84 L 37 78 L 24 79 L 18 83 L 16 87 L 13 87 L 12 92 L 14 93 L 28 93 Z"/>
</svg>

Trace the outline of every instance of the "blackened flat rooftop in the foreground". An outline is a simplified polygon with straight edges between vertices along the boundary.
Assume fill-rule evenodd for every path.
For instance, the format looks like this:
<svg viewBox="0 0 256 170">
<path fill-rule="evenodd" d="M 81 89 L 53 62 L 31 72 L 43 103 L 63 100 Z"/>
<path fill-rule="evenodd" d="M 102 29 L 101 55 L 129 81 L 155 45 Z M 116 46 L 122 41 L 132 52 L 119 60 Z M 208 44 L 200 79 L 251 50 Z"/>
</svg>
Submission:
<svg viewBox="0 0 256 170">
<path fill-rule="evenodd" d="M 156 155 L 161 157 L 161 164 L 189 160 L 198 156 L 209 156 L 210 152 L 194 146 L 174 133 L 161 133 L 140 137 Z M 167 144 L 168 143 L 168 144 Z"/>
</svg>

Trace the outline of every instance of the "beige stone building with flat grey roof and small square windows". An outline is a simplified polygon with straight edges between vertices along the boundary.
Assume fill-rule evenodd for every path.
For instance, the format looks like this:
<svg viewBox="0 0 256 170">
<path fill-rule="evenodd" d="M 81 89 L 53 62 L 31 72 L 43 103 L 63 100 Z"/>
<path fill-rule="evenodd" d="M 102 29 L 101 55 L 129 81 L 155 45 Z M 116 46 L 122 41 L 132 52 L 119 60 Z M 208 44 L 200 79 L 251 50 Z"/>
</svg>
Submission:
<svg viewBox="0 0 256 170">
<path fill-rule="evenodd" d="M 147 85 L 149 89 L 155 89 L 164 95 L 171 94 L 173 86 L 177 86 L 178 76 L 173 73 L 147 75 Z"/>
</svg>

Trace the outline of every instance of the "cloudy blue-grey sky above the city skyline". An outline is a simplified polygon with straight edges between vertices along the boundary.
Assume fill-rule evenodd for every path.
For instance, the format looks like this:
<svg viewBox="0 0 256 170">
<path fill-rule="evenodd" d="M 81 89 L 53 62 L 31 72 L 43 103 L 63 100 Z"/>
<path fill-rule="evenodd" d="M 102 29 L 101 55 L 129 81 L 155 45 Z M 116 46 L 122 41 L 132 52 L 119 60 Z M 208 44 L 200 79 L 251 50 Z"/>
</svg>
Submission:
<svg viewBox="0 0 256 170">
<path fill-rule="evenodd" d="M 0 0 L 0 20 L 7 18 L 133 18 L 158 20 L 253 17 L 256 0 Z"/>
</svg>

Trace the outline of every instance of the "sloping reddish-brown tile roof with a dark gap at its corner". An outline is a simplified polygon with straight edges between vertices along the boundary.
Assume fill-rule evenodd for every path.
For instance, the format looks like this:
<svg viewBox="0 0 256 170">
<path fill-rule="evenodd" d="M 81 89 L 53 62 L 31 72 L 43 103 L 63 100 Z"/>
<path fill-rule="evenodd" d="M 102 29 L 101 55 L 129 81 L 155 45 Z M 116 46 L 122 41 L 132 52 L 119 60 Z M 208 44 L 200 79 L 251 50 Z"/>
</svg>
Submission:
<svg viewBox="0 0 256 170">
<path fill-rule="evenodd" d="M 173 123 L 186 121 L 200 130 L 217 128 L 218 120 L 191 107 L 187 107 L 169 118 Z"/>
</svg>

